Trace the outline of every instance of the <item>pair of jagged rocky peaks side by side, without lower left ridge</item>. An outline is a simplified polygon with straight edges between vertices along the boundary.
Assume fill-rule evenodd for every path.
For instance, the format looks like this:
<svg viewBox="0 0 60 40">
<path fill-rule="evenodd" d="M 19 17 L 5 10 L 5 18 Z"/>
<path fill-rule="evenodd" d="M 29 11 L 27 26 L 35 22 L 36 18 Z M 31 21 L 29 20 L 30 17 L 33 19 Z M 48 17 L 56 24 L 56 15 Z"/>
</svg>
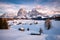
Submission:
<svg viewBox="0 0 60 40">
<path fill-rule="evenodd" d="M 29 18 L 29 17 L 37 17 L 37 16 L 44 16 L 44 14 L 42 13 L 39 13 L 36 8 L 32 9 L 32 11 L 29 11 L 27 13 L 27 11 L 23 8 L 21 8 L 18 13 L 17 13 L 17 18 Z M 28 17 L 29 16 L 29 17 Z"/>
</svg>

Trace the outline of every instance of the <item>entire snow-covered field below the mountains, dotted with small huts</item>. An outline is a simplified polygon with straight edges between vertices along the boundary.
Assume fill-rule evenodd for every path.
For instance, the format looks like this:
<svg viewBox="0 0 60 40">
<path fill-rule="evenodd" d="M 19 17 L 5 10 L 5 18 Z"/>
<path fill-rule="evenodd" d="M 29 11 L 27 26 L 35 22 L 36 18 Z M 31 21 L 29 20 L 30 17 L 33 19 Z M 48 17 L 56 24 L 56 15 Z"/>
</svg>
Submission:
<svg viewBox="0 0 60 40">
<path fill-rule="evenodd" d="M 35 24 L 38 22 L 38 24 Z M 45 28 L 45 21 L 34 20 L 10 20 L 9 30 L 0 30 L 0 40 L 60 40 L 60 21 L 51 20 L 51 29 Z M 18 29 L 23 27 L 25 31 Z M 30 30 L 27 31 L 27 28 Z M 39 33 L 39 29 L 43 30 L 41 35 L 30 35 L 31 33 Z"/>
</svg>

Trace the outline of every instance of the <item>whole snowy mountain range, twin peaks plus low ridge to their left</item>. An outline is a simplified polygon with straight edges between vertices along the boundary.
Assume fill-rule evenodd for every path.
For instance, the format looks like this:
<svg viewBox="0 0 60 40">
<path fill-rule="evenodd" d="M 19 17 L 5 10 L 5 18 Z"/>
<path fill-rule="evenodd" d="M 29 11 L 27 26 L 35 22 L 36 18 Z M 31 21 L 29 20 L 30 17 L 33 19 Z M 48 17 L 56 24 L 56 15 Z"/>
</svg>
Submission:
<svg viewBox="0 0 60 40">
<path fill-rule="evenodd" d="M 36 18 L 36 17 L 47 17 L 46 14 L 43 14 L 37 10 L 37 8 L 33 8 L 31 11 L 27 12 L 26 9 L 21 8 L 15 13 L 5 13 L 2 15 L 5 18 Z"/>
</svg>

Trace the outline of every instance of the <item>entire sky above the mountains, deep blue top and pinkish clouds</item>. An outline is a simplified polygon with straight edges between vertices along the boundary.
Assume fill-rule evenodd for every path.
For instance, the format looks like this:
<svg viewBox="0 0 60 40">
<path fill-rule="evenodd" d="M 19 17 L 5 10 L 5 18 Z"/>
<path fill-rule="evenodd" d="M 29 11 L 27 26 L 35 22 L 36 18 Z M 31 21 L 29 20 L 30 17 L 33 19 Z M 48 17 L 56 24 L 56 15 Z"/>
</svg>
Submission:
<svg viewBox="0 0 60 40">
<path fill-rule="evenodd" d="M 0 0 L 0 14 L 16 14 L 20 8 L 25 8 L 27 11 L 41 8 L 42 11 L 39 11 L 47 14 L 54 14 L 52 11 L 60 13 L 60 0 Z"/>
</svg>

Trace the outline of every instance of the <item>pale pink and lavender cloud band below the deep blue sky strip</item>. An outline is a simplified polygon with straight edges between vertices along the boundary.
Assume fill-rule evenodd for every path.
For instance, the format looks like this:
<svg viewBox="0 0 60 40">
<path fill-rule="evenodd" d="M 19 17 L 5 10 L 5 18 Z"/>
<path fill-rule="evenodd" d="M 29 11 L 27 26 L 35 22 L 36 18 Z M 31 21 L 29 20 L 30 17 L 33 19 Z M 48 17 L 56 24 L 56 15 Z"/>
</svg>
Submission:
<svg viewBox="0 0 60 40">
<path fill-rule="evenodd" d="M 37 2 L 40 0 L 36 0 Z M 25 8 L 27 11 L 32 10 L 33 8 L 41 8 L 40 12 L 47 13 L 48 15 L 55 14 L 54 11 L 60 10 L 59 1 L 53 1 L 45 5 L 42 4 L 12 4 L 12 3 L 1 3 L 0 2 L 0 14 L 3 13 L 13 13 L 17 14 L 20 8 Z"/>
</svg>

